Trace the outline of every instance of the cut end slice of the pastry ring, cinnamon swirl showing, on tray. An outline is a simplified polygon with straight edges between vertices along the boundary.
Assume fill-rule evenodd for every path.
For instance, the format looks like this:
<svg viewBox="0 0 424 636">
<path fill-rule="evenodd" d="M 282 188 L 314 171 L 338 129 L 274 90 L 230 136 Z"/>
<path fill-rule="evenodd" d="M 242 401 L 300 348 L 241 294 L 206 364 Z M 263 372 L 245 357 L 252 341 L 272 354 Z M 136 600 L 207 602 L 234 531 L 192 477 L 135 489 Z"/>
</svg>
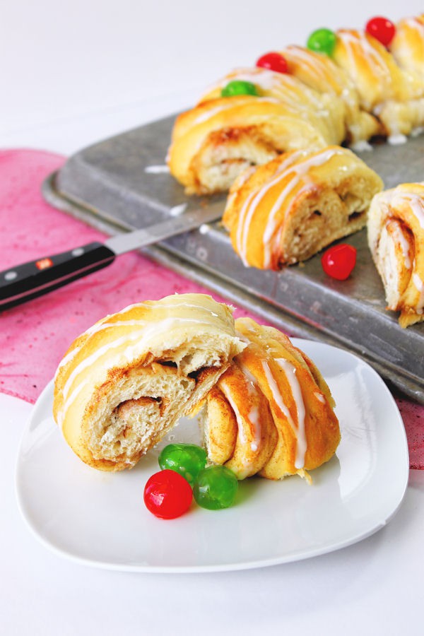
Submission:
<svg viewBox="0 0 424 636">
<path fill-rule="evenodd" d="M 228 190 L 251 165 L 329 143 L 322 119 L 312 110 L 242 95 L 210 100 L 179 115 L 167 161 L 187 194 L 212 194 Z"/>
</svg>

